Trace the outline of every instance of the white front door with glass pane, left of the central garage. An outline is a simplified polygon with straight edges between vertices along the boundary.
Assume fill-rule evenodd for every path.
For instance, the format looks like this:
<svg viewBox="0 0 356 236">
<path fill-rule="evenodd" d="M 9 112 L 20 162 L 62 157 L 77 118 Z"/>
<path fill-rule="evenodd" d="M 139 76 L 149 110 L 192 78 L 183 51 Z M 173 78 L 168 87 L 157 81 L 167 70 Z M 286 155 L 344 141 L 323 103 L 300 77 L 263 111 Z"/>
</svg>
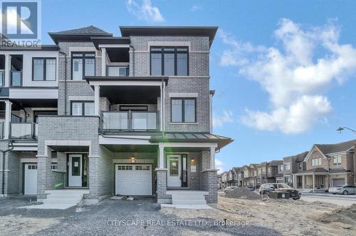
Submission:
<svg viewBox="0 0 356 236">
<path fill-rule="evenodd" d="M 83 155 L 69 155 L 68 186 L 82 187 Z"/>
</svg>

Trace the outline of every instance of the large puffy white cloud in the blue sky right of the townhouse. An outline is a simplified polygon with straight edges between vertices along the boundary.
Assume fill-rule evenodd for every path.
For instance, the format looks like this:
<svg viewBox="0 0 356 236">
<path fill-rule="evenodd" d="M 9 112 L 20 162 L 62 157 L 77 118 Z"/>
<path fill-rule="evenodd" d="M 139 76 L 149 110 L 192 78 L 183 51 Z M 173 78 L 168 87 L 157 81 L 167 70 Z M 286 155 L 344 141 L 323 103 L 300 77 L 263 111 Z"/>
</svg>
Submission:
<svg viewBox="0 0 356 236">
<path fill-rule="evenodd" d="M 223 38 L 229 51 L 235 52 L 230 61 L 248 61 L 227 65 L 239 66 L 239 73 L 260 83 L 271 103 L 267 112 L 247 109 L 242 121 L 259 130 L 303 133 L 333 110 L 326 94 L 333 81 L 342 83 L 356 71 L 356 49 L 338 43 L 340 29 L 333 22 L 303 29 L 293 21 L 281 19 L 274 36 L 281 48 L 243 53 L 238 49 L 248 43 L 235 39 L 226 42 Z M 221 61 L 223 58 L 224 53 Z"/>
</svg>

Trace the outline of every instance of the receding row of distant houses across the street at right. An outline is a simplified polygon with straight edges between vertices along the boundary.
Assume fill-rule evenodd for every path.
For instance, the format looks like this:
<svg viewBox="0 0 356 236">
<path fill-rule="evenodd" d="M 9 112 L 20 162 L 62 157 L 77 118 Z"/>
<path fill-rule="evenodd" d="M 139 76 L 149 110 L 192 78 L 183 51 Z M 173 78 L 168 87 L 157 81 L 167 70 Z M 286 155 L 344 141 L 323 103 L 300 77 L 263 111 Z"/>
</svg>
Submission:
<svg viewBox="0 0 356 236">
<path fill-rule="evenodd" d="M 356 140 L 314 144 L 309 151 L 259 164 L 234 167 L 218 175 L 219 188 L 286 183 L 294 188 L 326 190 L 356 183 Z"/>
</svg>

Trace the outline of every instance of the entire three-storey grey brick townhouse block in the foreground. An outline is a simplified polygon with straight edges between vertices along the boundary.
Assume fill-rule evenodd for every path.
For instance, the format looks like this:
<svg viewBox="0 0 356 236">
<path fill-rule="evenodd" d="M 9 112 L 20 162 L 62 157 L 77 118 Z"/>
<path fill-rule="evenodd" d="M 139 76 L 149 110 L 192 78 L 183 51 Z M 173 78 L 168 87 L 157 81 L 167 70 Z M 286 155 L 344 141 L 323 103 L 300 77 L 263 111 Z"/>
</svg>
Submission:
<svg viewBox="0 0 356 236">
<path fill-rule="evenodd" d="M 85 190 L 85 204 L 169 203 L 172 190 L 216 202 L 215 153 L 233 141 L 211 133 L 216 30 L 88 26 L 49 33 L 54 45 L 0 48 L 1 195 L 45 202 L 61 183 Z"/>
</svg>

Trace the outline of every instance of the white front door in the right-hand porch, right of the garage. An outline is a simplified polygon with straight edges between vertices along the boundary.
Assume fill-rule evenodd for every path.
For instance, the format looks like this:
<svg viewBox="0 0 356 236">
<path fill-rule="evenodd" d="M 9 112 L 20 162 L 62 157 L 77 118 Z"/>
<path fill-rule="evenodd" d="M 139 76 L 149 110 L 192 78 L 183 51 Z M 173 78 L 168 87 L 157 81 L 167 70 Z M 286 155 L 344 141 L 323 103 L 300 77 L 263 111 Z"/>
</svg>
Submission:
<svg viewBox="0 0 356 236">
<path fill-rule="evenodd" d="M 181 155 L 167 155 L 168 187 L 182 187 Z"/>
</svg>

